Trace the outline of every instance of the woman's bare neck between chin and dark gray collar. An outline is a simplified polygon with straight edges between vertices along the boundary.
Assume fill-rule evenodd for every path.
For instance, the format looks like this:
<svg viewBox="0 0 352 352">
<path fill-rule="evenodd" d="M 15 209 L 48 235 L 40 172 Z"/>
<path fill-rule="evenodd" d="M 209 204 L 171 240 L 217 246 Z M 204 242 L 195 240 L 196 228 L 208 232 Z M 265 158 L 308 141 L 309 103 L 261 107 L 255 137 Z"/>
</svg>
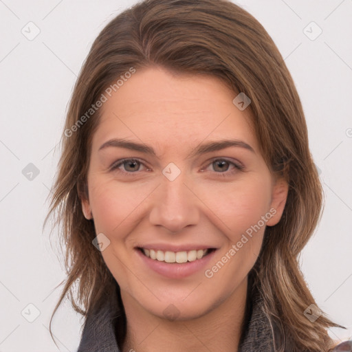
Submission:
<svg viewBox="0 0 352 352">
<path fill-rule="evenodd" d="M 191 320 L 155 316 L 121 292 L 126 312 L 122 352 L 237 352 L 241 338 L 248 280 L 208 313 Z"/>
</svg>

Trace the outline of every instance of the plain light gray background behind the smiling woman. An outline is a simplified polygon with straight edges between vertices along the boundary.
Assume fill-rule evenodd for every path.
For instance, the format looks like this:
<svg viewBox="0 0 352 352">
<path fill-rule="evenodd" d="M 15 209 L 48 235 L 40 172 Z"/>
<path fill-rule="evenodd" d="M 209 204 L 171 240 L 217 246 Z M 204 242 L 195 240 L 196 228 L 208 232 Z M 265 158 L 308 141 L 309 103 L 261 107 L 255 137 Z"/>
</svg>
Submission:
<svg viewBox="0 0 352 352">
<path fill-rule="evenodd" d="M 135 1 L 0 0 L 0 352 L 57 351 L 48 325 L 65 271 L 42 232 L 67 102 L 94 39 Z M 325 212 L 302 268 L 320 307 L 352 333 L 352 0 L 237 1 L 278 45 L 296 83 L 321 170 Z M 23 31 L 40 34 L 32 41 Z M 311 23 L 314 21 L 322 30 Z M 306 28 L 306 29 L 305 29 Z M 305 30 L 304 30 L 305 29 Z M 309 39 L 310 36 L 311 39 Z M 39 169 L 32 181 L 22 170 Z M 54 238 L 54 237 L 52 237 Z M 53 249 L 52 249 L 53 247 Z M 34 322 L 35 309 L 40 311 Z M 21 311 L 25 309 L 23 316 Z M 83 319 L 68 302 L 53 320 L 60 351 L 76 351 Z"/>
</svg>

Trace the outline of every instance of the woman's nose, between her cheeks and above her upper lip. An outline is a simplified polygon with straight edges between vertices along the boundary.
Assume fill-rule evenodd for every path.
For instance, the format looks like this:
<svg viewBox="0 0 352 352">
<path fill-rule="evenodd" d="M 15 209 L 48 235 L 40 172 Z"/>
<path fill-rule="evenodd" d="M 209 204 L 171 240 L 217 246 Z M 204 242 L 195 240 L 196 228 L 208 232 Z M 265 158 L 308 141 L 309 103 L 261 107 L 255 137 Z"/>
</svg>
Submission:
<svg viewBox="0 0 352 352">
<path fill-rule="evenodd" d="M 163 177 L 155 192 L 149 214 L 151 224 L 176 233 L 199 222 L 199 199 L 192 186 L 188 186 L 183 173 L 173 181 Z"/>
</svg>

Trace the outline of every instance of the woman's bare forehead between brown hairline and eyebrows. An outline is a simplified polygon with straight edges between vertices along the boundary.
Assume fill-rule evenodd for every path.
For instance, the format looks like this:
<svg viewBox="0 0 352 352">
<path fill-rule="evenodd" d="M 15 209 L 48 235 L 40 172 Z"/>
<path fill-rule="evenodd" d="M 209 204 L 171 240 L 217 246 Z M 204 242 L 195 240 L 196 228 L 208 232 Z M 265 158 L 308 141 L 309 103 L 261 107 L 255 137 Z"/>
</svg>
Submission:
<svg viewBox="0 0 352 352">
<path fill-rule="evenodd" d="M 153 144 L 162 153 L 228 137 L 256 150 L 250 110 L 240 111 L 232 103 L 235 97 L 214 76 L 175 76 L 159 67 L 137 70 L 107 96 L 92 147 L 123 137 Z"/>
</svg>

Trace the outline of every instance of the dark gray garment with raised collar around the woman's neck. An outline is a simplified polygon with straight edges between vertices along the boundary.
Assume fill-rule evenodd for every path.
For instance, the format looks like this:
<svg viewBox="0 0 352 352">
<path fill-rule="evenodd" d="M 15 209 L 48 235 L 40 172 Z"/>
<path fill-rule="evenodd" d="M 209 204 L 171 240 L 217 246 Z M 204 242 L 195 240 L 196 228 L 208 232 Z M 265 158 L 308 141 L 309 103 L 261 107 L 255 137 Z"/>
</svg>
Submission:
<svg viewBox="0 0 352 352">
<path fill-rule="evenodd" d="M 115 318 L 118 316 L 120 310 L 116 294 L 111 296 L 111 300 L 105 300 L 96 314 L 88 314 L 77 352 L 120 352 L 115 337 L 117 321 Z M 260 300 L 252 302 L 247 320 L 248 325 L 239 352 L 274 352 L 272 329 Z M 352 351 L 352 341 L 339 344 L 334 351 Z"/>
</svg>

